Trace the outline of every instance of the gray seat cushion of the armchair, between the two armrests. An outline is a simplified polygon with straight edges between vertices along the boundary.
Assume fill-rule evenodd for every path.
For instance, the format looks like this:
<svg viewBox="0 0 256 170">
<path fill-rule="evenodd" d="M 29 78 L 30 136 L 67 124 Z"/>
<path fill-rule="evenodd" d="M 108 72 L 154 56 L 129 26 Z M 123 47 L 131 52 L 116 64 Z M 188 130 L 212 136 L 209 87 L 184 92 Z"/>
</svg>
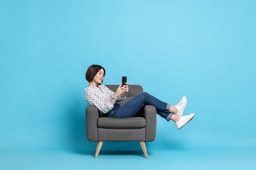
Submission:
<svg viewBox="0 0 256 170">
<path fill-rule="evenodd" d="M 97 126 L 101 128 L 133 129 L 146 126 L 146 120 L 142 117 L 133 118 L 98 118 Z"/>
</svg>

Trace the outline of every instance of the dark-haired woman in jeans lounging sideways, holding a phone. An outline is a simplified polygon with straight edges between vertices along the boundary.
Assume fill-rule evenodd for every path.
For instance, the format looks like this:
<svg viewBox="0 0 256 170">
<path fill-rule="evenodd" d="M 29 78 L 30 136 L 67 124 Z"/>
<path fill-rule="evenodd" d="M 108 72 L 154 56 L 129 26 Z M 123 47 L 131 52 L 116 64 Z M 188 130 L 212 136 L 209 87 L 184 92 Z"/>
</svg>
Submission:
<svg viewBox="0 0 256 170">
<path fill-rule="evenodd" d="M 128 84 L 117 88 L 113 92 L 102 84 L 105 76 L 105 69 L 100 65 L 91 65 L 86 72 L 85 78 L 89 82 L 89 86 L 85 88 L 86 101 L 106 114 L 110 118 L 129 118 L 135 116 L 145 105 L 153 105 L 156 107 L 157 113 L 167 121 L 173 120 L 178 129 L 186 125 L 195 114 L 182 116 L 186 107 L 186 97 L 182 97 L 181 101 L 175 106 L 160 101 L 149 93 L 143 92 L 135 96 L 131 101 L 120 106 L 116 101 L 125 99 L 126 93 L 129 92 Z"/>
</svg>

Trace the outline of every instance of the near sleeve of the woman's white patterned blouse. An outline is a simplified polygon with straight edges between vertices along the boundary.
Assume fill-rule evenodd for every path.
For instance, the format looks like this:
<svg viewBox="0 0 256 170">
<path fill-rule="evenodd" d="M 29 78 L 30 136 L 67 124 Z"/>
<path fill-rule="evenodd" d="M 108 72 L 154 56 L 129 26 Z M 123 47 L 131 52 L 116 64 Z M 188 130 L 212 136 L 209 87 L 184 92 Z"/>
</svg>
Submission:
<svg viewBox="0 0 256 170">
<path fill-rule="evenodd" d="M 114 107 L 114 105 L 110 102 L 109 97 L 100 98 L 91 90 L 85 90 L 85 93 L 85 100 L 90 105 L 97 107 L 98 110 L 104 114 L 108 113 Z"/>
</svg>

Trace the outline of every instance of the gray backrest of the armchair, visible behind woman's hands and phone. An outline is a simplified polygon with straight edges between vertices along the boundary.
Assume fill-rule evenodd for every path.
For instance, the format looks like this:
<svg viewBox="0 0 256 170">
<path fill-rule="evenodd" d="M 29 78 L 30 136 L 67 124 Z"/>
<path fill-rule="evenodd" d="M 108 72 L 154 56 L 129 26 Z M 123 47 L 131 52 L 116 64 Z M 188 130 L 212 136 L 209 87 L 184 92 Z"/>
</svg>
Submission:
<svg viewBox="0 0 256 170">
<path fill-rule="evenodd" d="M 119 85 L 106 85 L 110 90 L 113 92 L 116 92 Z M 126 99 L 123 99 L 122 101 L 119 101 L 119 105 L 123 105 L 133 99 L 136 95 L 139 95 L 143 92 L 143 88 L 140 85 L 137 84 L 131 84 L 129 85 L 129 92 L 126 94 Z"/>
</svg>

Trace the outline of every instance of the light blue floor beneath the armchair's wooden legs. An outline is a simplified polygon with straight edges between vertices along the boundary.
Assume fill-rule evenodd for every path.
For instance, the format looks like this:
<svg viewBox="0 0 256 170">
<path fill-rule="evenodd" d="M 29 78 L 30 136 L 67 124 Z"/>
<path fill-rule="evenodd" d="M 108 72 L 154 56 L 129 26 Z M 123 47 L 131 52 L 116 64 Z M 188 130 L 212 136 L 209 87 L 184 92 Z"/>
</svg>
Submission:
<svg viewBox="0 0 256 170">
<path fill-rule="evenodd" d="M 0 169 L 256 169 L 256 150 L 0 150 Z"/>
</svg>

